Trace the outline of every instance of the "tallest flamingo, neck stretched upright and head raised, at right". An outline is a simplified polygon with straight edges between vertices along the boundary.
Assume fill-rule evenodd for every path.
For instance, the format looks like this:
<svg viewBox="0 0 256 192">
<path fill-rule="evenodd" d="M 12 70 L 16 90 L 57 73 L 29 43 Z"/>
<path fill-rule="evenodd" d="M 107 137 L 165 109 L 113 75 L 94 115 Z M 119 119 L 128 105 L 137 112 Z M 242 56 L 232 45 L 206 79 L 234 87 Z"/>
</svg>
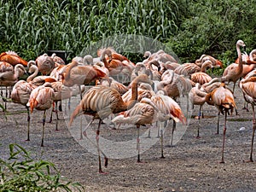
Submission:
<svg viewBox="0 0 256 192">
<path fill-rule="evenodd" d="M 236 63 L 232 63 L 230 64 L 230 66 L 226 67 L 224 70 L 223 76 L 221 78 L 222 82 L 228 81 L 228 83 L 230 83 L 230 81 L 232 81 L 234 83 L 233 93 L 235 91 L 236 81 L 242 77 L 243 65 L 241 61 L 241 47 L 245 47 L 245 46 L 246 44 L 244 44 L 242 40 L 238 40 L 236 42 L 236 51 L 237 51 L 239 63 L 238 65 Z"/>
</svg>

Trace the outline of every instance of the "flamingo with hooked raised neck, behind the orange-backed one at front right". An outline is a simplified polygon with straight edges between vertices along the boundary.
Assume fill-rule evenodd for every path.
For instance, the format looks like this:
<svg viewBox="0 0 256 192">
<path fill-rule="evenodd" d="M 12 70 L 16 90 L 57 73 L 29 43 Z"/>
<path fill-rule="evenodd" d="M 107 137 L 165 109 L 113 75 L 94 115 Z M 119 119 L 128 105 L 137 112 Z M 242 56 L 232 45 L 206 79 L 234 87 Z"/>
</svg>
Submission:
<svg viewBox="0 0 256 192">
<path fill-rule="evenodd" d="M 207 60 L 201 65 L 201 72 L 191 74 L 190 79 L 195 83 L 206 84 L 212 80 L 211 76 L 209 76 L 206 71 L 207 67 L 212 68 L 212 61 Z"/>
</svg>

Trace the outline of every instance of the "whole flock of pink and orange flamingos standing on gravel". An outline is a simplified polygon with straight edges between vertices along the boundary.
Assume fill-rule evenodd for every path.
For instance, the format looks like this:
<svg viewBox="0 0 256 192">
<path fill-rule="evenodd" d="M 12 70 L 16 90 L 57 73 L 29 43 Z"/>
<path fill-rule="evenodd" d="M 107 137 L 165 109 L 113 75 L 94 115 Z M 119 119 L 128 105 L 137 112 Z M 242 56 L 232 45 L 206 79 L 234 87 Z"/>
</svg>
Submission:
<svg viewBox="0 0 256 192">
<path fill-rule="evenodd" d="M 76 56 L 70 63 L 65 63 L 57 55 L 39 55 L 35 61 L 25 61 L 14 51 L 0 55 L 0 85 L 10 87 L 9 95 L 12 102 L 20 104 L 27 111 L 26 141 L 30 141 L 30 119 L 34 109 L 43 111 L 43 127 L 41 146 L 44 147 L 44 129 L 46 111 L 51 109 L 51 117 L 55 112 L 58 122 L 58 102 L 80 96 L 80 102 L 73 110 L 69 126 L 80 115 L 90 115 L 90 124 L 81 134 L 87 139 L 86 130 L 94 120 L 98 121 L 96 128 L 96 143 L 100 173 L 102 171 L 101 154 L 108 166 L 108 157 L 100 146 L 100 130 L 105 119 L 110 118 L 114 127 L 125 124 L 137 127 L 137 162 L 141 162 L 140 127 L 145 125 L 160 125 L 160 122 L 173 120 L 172 137 L 176 124 L 187 125 L 189 105 L 199 106 L 197 138 L 200 138 L 201 119 L 204 118 L 203 106 L 210 105 L 218 109 L 217 134 L 219 134 L 219 116 L 224 114 L 223 145 L 221 163 L 224 163 L 224 143 L 227 131 L 226 121 L 236 107 L 234 90 L 236 82 L 243 94 L 245 102 L 253 108 L 253 136 L 249 161 L 253 161 L 253 139 L 256 130 L 254 105 L 256 103 L 256 49 L 247 55 L 241 52 L 246 44 L 242 40 L 236 42 L 237 59 L 224 69 L 220 78 L 207 74 L 207 69 L 224 68 L 222 61 L 211 55 L 201 55 L 195 62 L 180 64 L 164 50 L 151 53 L 145 51 L 144 60 L 134 63 L 113 48 L 102 48 L 97 51 L 98 57 L 91 55 Z M 19 80 L 24 73 L 31 73 L 26 80 Z M 122 75 L 128 84 L 119 82 L 117 75 Z M 123 79 L 123 80 L 124 80 Z M 230 82 L 233 89 L 228 88 Z M 227 83 L 227 84 L 226 84 Z M 83 90 L 90 85 L 90 89 Z M 79 91 L 74 90 L 78 87 Z M 187 108 L 179 105 L 179 99 L 187 98 Z M 61 105 L 61 104 L 60 104 Z M 6 108 L 6 106 L 5 106 Z M 58 131 L 58 123 L 55 130 Z M 159 127 L 158 127 L 159 128 Z M 110 130 L 114 131 L 114 130 Z M 148 135 L 149 136 L 149 135 Z M 163 134 L 161 131 L 161 158 L 163 153 Z M 93 143 L 92 141 L 90 141 Z M 172 145 L 172 139 L 171 143 Z"/>
</svg>

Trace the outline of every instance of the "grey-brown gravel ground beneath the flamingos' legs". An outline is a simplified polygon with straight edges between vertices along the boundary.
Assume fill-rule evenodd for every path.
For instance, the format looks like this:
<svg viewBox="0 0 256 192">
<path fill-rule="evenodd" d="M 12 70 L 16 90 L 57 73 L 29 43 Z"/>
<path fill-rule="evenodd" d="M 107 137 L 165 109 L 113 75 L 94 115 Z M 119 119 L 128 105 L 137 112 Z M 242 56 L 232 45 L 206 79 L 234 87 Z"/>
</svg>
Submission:
<svg viewBox="0 0 256 192">
<path fill-rule="evenodd" d="M 141 129 L 141 134 L 144 134 L 141 136 L 141 158 L 144 163 L 137 163 L 136 143 L 129 143 L 131 140 L 136 141 L 135 127 L 112 130 L 107 128 L 108 123 L 102 125 L 101 139 L 111 140 L 113 144 L 100 143 L 102 150 L 109 154 L 109 162 L 108 168 L 102 167 L 108 174 L 99 174 L 95 147 L 90 146 L 86 138 L 79 140 L 79 118 L 70 129 L 67 128 L 66 102 L 63 102 L 63 112 L 60 112 L 58 121 L 60 131 L 55 131 L 55 115 L 53 122 L 46 124 L 44 148 L 40 147 L 43 112 L 36 110 L 32 113 L 31 141 L 24 142 L 26 110 L 19 104 L 9 102 L 7 119 L 1 113 L 0 154 L 2 158 L 7 157 L 9 143 L 18 143 L 31 151 L 36 159 L 42 158 L 55 163 L 63 177 L 82 183 L 86 191 L 255 191 L 256 165 L 246 162 L 252 137 L 252 109 L 249 108 L 249 112 L 241 109 L 243 99 L 237 86 L 235 95 L 239 115 L 228 117 L 224 164 L 219 163 L 224 116 L 220 118 L 220 134 L 216 135 L 217 109 L 207 104 L 204 107 L 206 118 L 201 119 L 200 139 L 195 138 L 199 124 L 194 117 L 198 106 L 191 112 L 193 115 L 188 119 L 189 125 L 185 131 L 182 128 L 179 130 L 181 126 L 177 125 L 174 133 L 175 145 L 172 148 L 166 146 L 170 140 L 172 125 L 166 128 L 165 159 L 160 158 L 160 139 L 155 138 L 155 125 L 150 128 L 151 138 L 145 137 L 148 135 L 148 127 Z M 72 101 L 76 101 L 75 98 Z M 88 120 L 83 119 L 83 126 Z M 96 125 L 97 121 L 88 129 L 92 141 L 95 141 L 92 133 L 95 134 Z M 241 127 L 245 129 L 239 131 Z M 183 137 L 179 139 L 178 134 Z M 122 141 L 125 146 L 116 144 Z"/>
</svg>

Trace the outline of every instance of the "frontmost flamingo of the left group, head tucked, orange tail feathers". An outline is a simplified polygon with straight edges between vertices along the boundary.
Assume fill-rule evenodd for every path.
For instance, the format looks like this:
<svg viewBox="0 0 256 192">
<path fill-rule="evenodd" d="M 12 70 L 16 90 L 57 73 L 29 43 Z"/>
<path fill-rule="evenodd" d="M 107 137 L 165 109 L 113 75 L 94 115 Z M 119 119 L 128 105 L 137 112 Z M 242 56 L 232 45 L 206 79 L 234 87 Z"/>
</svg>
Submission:
<svg viewBox="0 0 256 192">
<path fill-rule="evenodd" d="M 44 147 L 44 125 L 46 118 L 46 110 L 49 109 L 53 103 L 54 90 L 51 88 L 51 84 L 46 82 L 43 85 L 38 86 L 32 90 L 26 106 L 30 108 L 31 113 L 36 108 L 40 111 L 44 111 L 43 117 L 43 130 L 42 130 L 42 142 L 41 147 Z"/>
</svg>

